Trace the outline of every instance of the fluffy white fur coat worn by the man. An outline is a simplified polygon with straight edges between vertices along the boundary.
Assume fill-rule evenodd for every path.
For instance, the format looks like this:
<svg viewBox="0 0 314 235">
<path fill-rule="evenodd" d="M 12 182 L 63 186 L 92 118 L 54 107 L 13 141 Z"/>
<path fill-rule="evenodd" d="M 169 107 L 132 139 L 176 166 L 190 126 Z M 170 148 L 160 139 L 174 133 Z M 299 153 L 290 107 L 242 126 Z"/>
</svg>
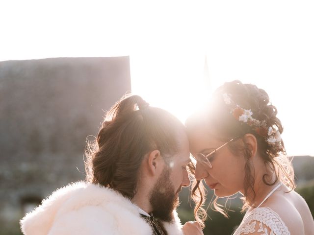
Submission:
<svg viewBox="0 0 314 235">
<path fill-rule="evenodd" d="M 183 235 L 174 223 L 162 223 L 168 235 Z M 25 235 L 151 235 L 138 207 L 120 193 L 85 182 L 60 188 L 20 221 Z"/>
</svg>

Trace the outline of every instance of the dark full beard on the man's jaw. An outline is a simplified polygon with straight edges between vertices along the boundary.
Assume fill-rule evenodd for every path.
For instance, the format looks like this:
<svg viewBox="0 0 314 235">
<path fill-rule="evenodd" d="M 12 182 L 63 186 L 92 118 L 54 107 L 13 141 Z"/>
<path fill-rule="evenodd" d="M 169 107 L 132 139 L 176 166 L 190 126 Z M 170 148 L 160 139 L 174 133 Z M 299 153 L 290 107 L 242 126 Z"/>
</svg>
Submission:
<svg viewBox="0 0 314 235">
<path fill-rule="evenodd" d="M 153 207 L 153 215 L 165 222 L 174 220 L 173 210 L 179 206 L 178 193 L 170 181 L 171 170 L 169 167 L 163 169 L 157 183 L 151 191 L 150 203 Z"/>
</svg>

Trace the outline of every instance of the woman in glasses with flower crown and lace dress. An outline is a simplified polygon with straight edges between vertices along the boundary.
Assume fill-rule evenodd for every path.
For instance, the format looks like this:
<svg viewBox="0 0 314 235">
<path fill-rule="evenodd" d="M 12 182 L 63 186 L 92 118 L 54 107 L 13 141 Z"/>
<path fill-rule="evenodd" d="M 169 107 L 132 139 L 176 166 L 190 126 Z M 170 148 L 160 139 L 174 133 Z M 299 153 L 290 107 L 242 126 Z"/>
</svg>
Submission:
<svg viewBox="0 0 314 235">
<path fill-rule="evenodd" d="M 187 119 L 190 151 L 196 159 L 196 215 L 204 214 L 204 194 L 196 190 L 202 189 L 204 179 L 217 198 L 243 195 L 246 214 L 235 235 L 314 234 L 309 207 L 294 191 L 293 168 L 276 115 L 264 90 L 233 81 L 215 91 L 202 113 Z M 226 215 L 217 198 L 214 208 Z"/>
</svg>

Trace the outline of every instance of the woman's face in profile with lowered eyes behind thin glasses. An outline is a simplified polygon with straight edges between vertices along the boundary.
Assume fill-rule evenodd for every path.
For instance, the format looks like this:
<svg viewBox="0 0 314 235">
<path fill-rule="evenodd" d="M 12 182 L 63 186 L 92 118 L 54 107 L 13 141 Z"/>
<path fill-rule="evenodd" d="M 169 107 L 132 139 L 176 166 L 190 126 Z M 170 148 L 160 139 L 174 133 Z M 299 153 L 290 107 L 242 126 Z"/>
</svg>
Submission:
<svg viewBox="0 0 314 235">
<path fill-rule="evenodd" d="M 188 130 L 190 152 L 193 156 L 202 153 L 205 156 L 223 145 L 224 142 L 214 138 L 205 128 Z M 241 140 L 238 140 L 241 141 Z M 199 157 L 196 157 L 199 159 Z M 245 177 L 245 159 L 243 156 L 235 156 L 228 144 L 208 157 L 212 166 L 197 161 L 195 178 L 204 179 L 209 188 L 214 190 L 217 197 L 226 197 L 238 191 L 243 192 Z"/>
</svg>

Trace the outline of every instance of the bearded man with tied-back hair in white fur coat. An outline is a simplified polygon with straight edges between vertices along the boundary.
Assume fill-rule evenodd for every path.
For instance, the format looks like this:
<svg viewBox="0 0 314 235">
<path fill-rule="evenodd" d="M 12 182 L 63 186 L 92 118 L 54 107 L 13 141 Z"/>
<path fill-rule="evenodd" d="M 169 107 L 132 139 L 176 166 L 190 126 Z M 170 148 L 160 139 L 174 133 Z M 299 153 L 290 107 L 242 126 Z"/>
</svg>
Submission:
<svg viewBox="0 0 314 235">
<path fill-rule="evenodd" d="M 106 114 L 86 157 L 86 182 L 58 189 L 26 214 L 24 234 L 183 234 L 175 209 L 190 184 L 190 158 L 177 118 L 140 96 L 124 98 Z"/>
</svg>

